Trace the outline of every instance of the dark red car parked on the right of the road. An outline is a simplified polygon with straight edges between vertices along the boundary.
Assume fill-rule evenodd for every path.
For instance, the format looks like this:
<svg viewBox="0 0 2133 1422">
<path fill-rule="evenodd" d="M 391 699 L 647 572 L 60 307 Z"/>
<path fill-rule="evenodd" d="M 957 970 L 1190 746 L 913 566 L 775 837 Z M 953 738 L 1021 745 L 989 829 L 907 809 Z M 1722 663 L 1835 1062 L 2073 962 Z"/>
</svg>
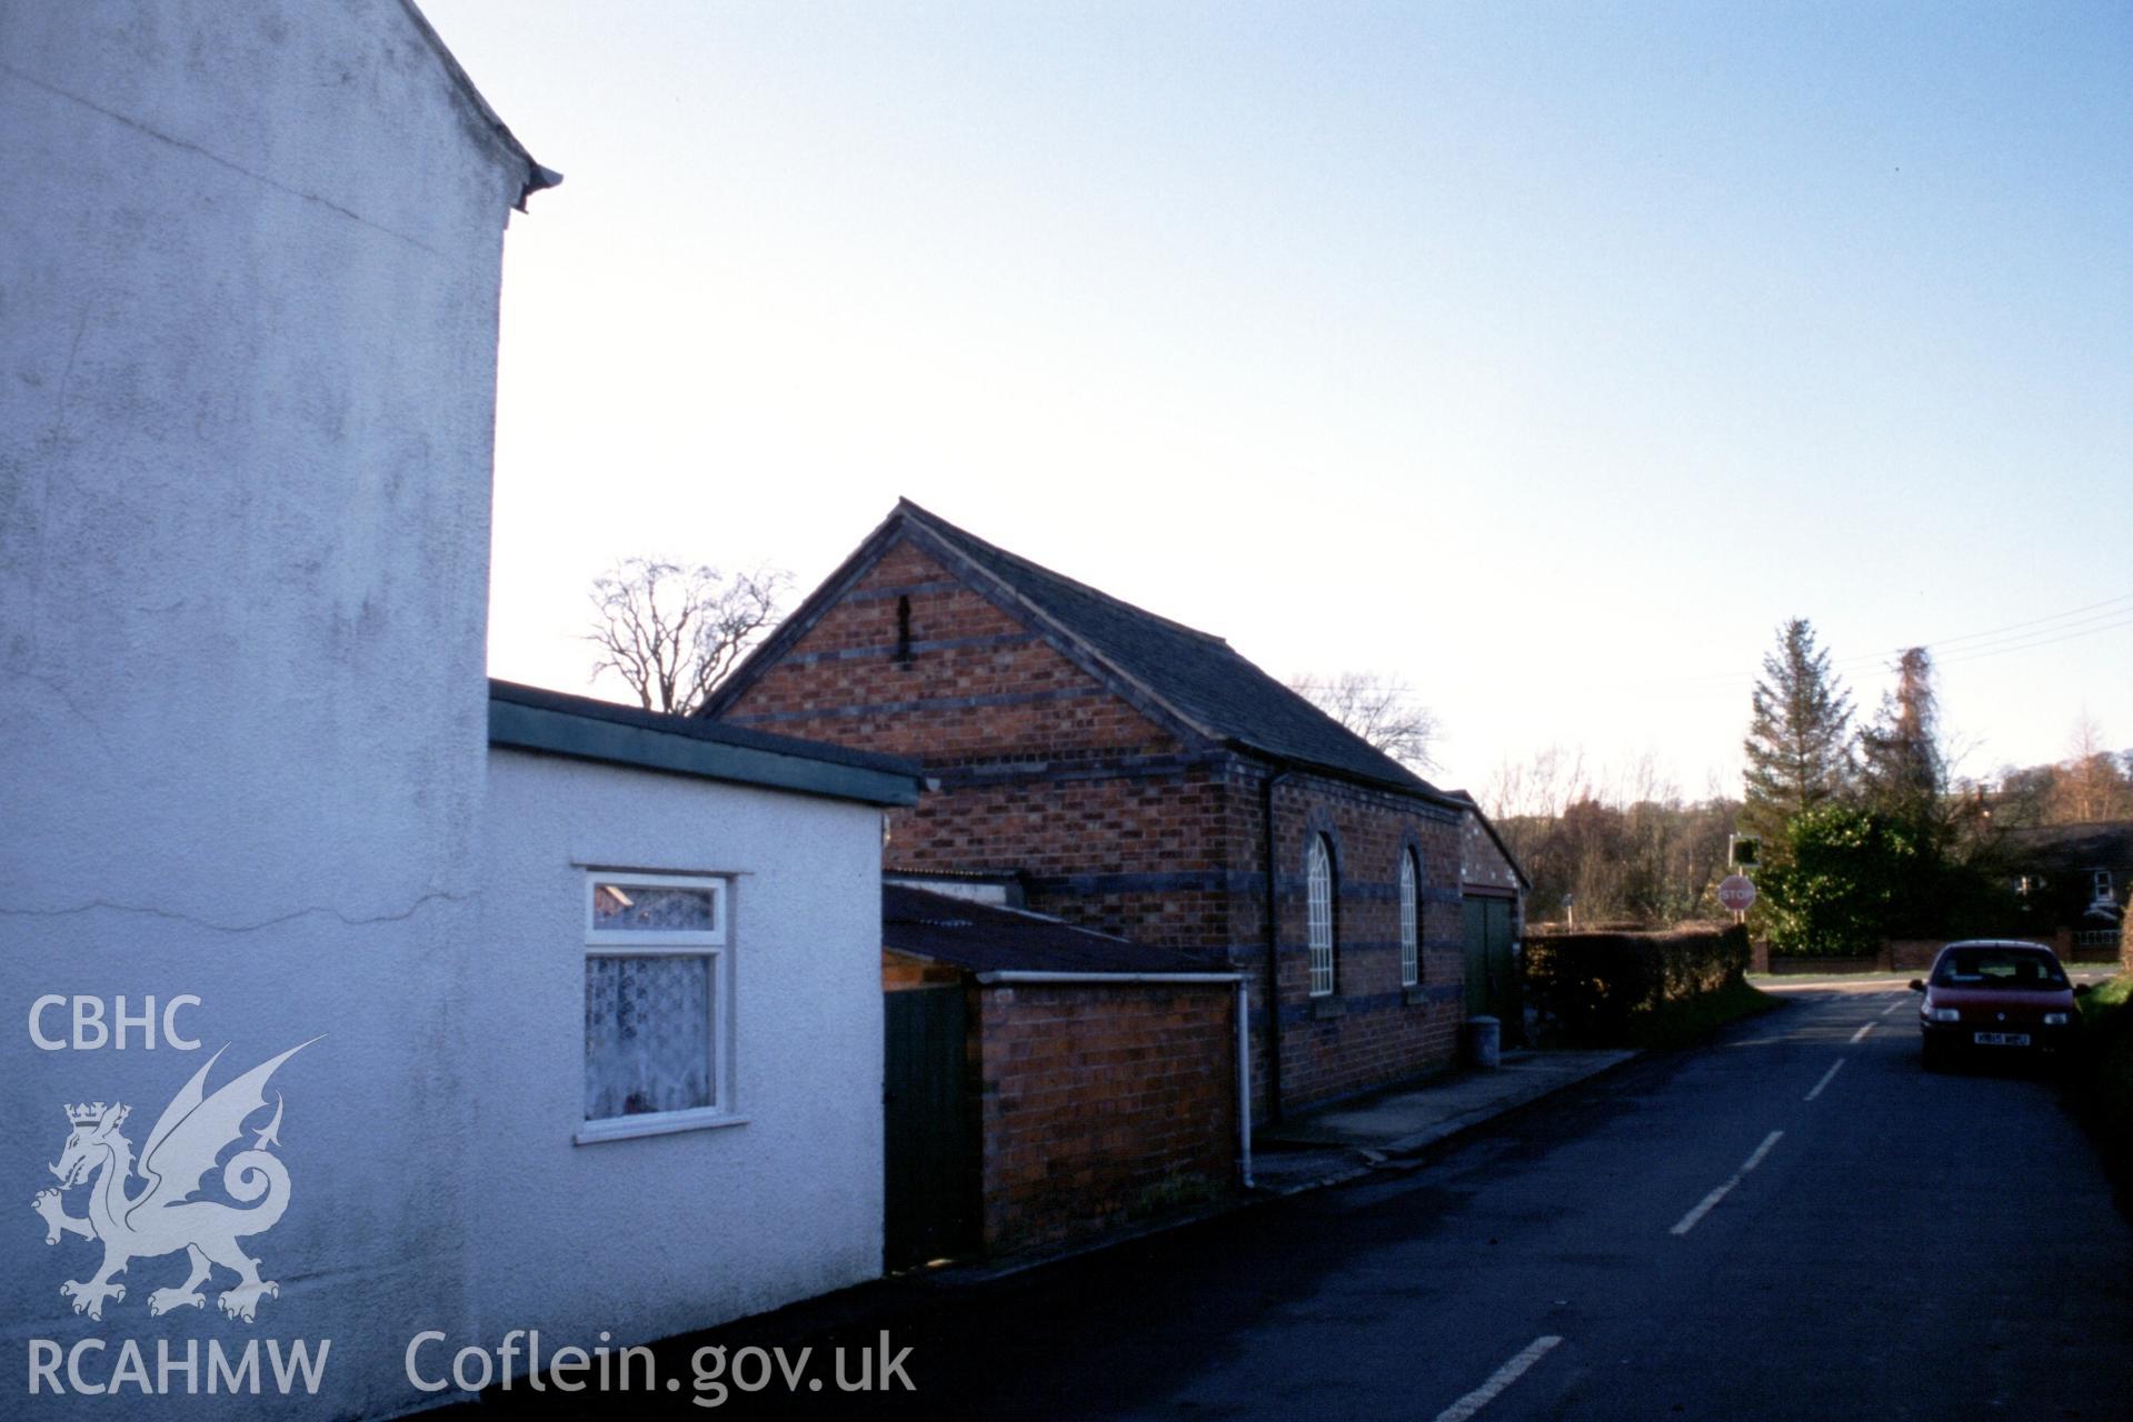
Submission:
<svg viewBox="0 0 2133 1422">
<path fill-rule="evenodd" d="M 1926 993 L 1918 1004 L 1926 1070 L 1956 1053 L 2060 1051 L 2082 1023 L 2067 970 L 2037 942 L 1952 942 L 1926 981 L 1911 979 L 1911 991 Z"/>
</svg>

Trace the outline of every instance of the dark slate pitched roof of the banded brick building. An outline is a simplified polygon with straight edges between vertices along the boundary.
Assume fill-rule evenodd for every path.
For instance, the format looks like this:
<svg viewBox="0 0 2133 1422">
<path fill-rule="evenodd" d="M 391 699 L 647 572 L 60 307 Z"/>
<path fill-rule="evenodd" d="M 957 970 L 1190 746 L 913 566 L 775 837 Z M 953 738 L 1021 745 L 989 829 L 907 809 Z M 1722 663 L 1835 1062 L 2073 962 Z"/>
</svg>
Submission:
<svg viewBox="0 0 2133 1422">
<path fill-rule="evenodd" d="M 1463 808 L 1239 657 L 1222 637 L 1039 567 L 909 499 L 898 499 L 851 559 L 727 678 L 704 714 L 723 714 L 896 537 L 911 537 L 994 601 L 1049 633 L 1069 655 L 1098 663 L 1111 678 L 1124 682 L 1128 699 L 1167 714 L 1207 740 L 1421 795 L 1446 808 Z"/>
</svg>

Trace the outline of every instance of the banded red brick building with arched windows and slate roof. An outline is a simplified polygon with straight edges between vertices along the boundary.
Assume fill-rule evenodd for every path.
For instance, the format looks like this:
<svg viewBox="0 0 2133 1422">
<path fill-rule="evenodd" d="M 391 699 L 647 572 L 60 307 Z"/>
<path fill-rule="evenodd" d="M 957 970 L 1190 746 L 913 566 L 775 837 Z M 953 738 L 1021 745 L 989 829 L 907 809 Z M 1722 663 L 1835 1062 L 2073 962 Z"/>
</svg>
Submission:
<svg viewBox="0 0 2133 1422">
<path fill-rule="evenodd" d="M 900 501 L 704 714 L 921 761 L 892 866 L 1244 970 L 1254 1115 L 1457 1051 L 1472 806 L 1222 637 Z"/>
</svg>

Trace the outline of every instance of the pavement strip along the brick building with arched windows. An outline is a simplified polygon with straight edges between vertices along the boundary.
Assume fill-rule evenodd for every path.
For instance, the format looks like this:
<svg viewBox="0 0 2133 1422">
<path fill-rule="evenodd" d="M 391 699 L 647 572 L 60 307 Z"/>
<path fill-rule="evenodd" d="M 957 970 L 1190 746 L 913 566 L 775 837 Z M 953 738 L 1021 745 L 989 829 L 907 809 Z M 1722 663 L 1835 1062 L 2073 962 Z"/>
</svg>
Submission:
<svg viewBox="0 0 2133 1422">
<path fill-rule="evenodd" d="M 1293 1113 L 1254 1132 L 1252 1190 L 1284 1196 L 1359 1179 L 1636 1055 L 1506 1051 L 1495 1068 L 1461 1066 Z"/>
</svg>

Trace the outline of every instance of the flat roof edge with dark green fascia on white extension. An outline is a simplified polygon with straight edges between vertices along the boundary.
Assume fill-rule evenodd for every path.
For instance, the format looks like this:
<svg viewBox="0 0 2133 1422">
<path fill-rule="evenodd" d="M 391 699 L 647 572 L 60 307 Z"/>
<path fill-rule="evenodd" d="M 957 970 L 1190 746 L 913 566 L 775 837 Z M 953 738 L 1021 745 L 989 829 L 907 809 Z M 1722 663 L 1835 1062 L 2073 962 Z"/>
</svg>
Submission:
<svg viewBox="0 0 2133 1422">
<path fill-rule="evenodd" d="M 488 682 L 488 744 L 877 806 L 919 799 L 919 765 L 894 755 L 665 716 L 516 682 Z"/>
</svg>

